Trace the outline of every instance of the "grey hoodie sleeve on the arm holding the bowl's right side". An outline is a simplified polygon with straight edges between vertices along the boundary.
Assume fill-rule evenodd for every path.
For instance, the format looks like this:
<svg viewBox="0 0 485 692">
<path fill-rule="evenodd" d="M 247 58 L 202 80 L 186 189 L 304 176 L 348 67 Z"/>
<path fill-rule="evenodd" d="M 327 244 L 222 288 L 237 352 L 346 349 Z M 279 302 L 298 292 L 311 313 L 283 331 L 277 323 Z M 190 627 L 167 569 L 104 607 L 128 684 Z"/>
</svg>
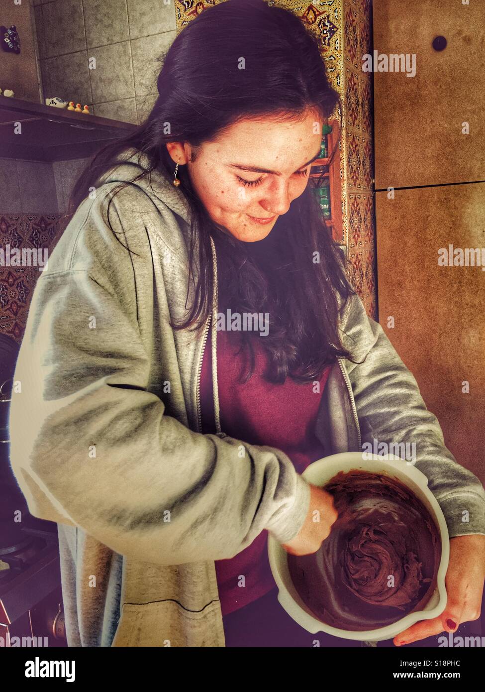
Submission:
<svg viewBox="0 0 485 692">
<path fill-rule="evenodd" d="M 458 464 L 445 446 L 439 421 L 426 408 L 416 379 L 381 325 L 367 316 L 357 296 L 353 297 L 350 314 L 347 321 L 350 334 L 368 349 L 365 361 L 349 369 L 363 450 L 371 451 L 374 439 L 376 444 L 402 444 L 403 453 L 397 451 L 399 447 L 395 452 L 401 457 L 405 445 L 408 450 L 414 449 L 415 458 L 410 463 L 428 478 L 428 487 L 443 511 L 450 538 L 485 534 L 482 483 Z"/>
</svg>

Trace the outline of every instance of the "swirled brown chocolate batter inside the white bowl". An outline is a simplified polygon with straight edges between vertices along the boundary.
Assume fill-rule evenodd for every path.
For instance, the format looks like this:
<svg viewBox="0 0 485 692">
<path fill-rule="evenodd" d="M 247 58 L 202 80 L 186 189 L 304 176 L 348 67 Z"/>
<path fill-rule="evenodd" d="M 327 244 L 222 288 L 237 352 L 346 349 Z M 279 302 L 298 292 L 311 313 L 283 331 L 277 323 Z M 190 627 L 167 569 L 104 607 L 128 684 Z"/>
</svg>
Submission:
<svg viewBox="0 0 485 692">
<path fill-rule="evenodd" d="M 374 630 L 422 610 L 436 586 L 441 537 L 421 500 L 395 477 L 358 470 L 341 471 L 324 490 L 338 511 L 330 535 L 316 553 L 288 555 L 314 617 Z"/>
</svg>

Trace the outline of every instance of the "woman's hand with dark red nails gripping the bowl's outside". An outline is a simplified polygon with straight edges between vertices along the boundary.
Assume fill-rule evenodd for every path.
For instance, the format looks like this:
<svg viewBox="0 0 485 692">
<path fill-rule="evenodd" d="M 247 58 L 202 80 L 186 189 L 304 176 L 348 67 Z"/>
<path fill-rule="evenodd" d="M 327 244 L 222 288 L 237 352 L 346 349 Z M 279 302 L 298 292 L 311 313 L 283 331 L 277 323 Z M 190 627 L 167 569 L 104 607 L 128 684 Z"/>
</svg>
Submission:
<svg viewBox="0 0 485 692">
<path fill-rule="evenodd" d="M 455 632 L 464 622 L 477 620 L 482 607 L 485 579 L 485 536 L 471 534 L 450 538 L 450 563 L 445 577 L 448 601 L 439 617 L 421 620 L 394 637 L 394 644 Z"/>
</svg>

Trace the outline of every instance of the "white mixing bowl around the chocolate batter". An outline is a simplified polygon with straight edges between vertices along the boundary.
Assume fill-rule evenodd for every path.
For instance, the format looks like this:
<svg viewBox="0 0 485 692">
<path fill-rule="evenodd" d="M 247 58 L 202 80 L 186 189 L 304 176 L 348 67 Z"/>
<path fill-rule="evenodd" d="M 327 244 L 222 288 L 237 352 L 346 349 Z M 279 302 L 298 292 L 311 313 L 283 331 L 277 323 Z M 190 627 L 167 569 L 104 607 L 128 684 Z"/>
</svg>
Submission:
<svg viewBox="0 0 485 692">
<path fill-rule="evenodd" d="M 434 519 L 441 536 L 441 561 L 439 563 L 436 588 L 424 609 L 411 612 L 391 625 L 376 630 L 365 630 L 363 632 L 340 630 L 327 625 L 311 614 L 311 611 L 300 598 L 291 580 L 287 560 L 288 553 L 271 534 L 268 534 L 269 563 L 278 587 L 278 601 L 280 601 L 284 610 L 293 620 L 305 630 L 308 630 L 308 632 L 327 632 L 329 635 L 333 635 L 333 637 L 356 639 L 358 641 L 393 639 L 396 635 L 399 635 L 399 632 L 403 632 L 403 630 L 414 625 L 417 621 L 437 617 L 446 607 L 445 575 L 450 558 L 448 527 L 446 526 L 441 507 L 439 507 L 436 498 L 428 489 L 428 478 L 412 464 L 395 455 L 378 456 L 360 452 L 333 454 L 330 457 L 318 459 L 318 462 L 313 462 L 313 464 L 307 466 L 302 473 L 302 477 L 312 485 L 321 487 L 327 484 L 339 471 L 347 472 L 353 469 L 368 471 L 369 473 L 386 473 L 396 477 L 417 495 L 417 498 L 423 502 Z"/>
</svg>

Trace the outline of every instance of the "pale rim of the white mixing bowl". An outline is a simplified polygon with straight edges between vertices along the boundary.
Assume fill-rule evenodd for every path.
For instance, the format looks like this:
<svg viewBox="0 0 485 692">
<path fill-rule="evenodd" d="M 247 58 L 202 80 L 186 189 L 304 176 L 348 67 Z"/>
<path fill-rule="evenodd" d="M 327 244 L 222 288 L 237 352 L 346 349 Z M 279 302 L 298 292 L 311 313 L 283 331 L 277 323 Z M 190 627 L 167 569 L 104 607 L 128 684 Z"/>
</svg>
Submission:
<svg viewBox="0 0 485 692">
<path fill-rule="evenodd" d="M 309 480 L 309 477 L 313 477 L 315 473 L 318 474 L 320 469 L 324 468 L 325 466 L 328 467 L 330 461 L 338 462 L 339 464 L 342 462 L 341 471 L 345 472 L 351 471 L 351 468 L 360 467 L 363 467 L 365 470 L 365 462 L 385 462 L 386 465 L 382 469 L 383 472 L 387 471 L 388 473 L 392 473 L 393 470 L 398 471 L 399 473 L 407 476 L 412 483 L 419 486 L 419 489 L 423 492 L 432 507 L 434 513 L 432 518 L 437 524 L 441 537 L 441 560 L 437 572 L 437 584 L 431 596 L 432 599 L 433 597 L 436 597 L 436 594 L 438 594 L 437 605 L 430 610 L 417 610 L 408 613 L 401 619 L 396 620 L 394 623 L 390 623 L 385 627 L 376 628 L 373 630 L 342 630 L 340 628 L 327 625 L 326 623 L 317 619 L 315 616 L 311 615 L 307 610 L 304 610 L 302 605 L 295 600 L 293 594 L 289 592 L 288 588 L 286 587 L 285 580 L 281 574 L 282 561 L 284 561 L 286 571 L 288 571 L 288 553 L 280 545 L 280 543 L 277 542 L 273 534 L 268 532 L 268 558 L 273 579 L 275 579 L 278 588 L 277 598 L 280 605 L 282 605 L 282 608 L 284 608 L 286 613 L 289 614 L 289 616 L 295 620 L 295 622 L 313 634 L 316 634 L 317 632 L 326 632 L 329 635 L 333 635 L 333 637 L 340 637 L 340 639 L 354 639 L 357 641 L 383 641 L 385 639 L 392 639 L 397 634 L 408 629 L 410 626 L 414 625 L 414 623 L 417 623 L 420 620 L 430 620 L 437 617 L 446 608 L 447 594 L 445 587 L 445 576 L 446 571 L 448 570 L 448 562 L 450 558 L 450 536 L 448 534 L 448 527 L 446 525 L 443 511 L 441 510 L 437 499 L 428 488 L 428 477 L 425 476 L 422 471 L 419 471 L 419 468 L 416 468 L 414 464 L 406 462 L 405 459 L 401 459 L 401 457 L 393 454 L 376 455 L 367 452 L 341 452 L 328 457 L 322 457 L 322 459 L 318 459 L 317 461 L 309 464 L 309 466 L 307 466 L 301 474 L 302 477 L 304 480 Z M 332 477 L 333 475 L 336 475 L 336 473 L 333 473 Z M 381 473 L 381 471 L 374 471 L 374 473 Z M 318 485 L 318 483 L 315 483 L 313 480 L 309 482 Z M 326 482 L 327 481 L 324 481 L 323 484 Z M 301 602 L 303 604 L 303 601 Z"/>
</svg>

